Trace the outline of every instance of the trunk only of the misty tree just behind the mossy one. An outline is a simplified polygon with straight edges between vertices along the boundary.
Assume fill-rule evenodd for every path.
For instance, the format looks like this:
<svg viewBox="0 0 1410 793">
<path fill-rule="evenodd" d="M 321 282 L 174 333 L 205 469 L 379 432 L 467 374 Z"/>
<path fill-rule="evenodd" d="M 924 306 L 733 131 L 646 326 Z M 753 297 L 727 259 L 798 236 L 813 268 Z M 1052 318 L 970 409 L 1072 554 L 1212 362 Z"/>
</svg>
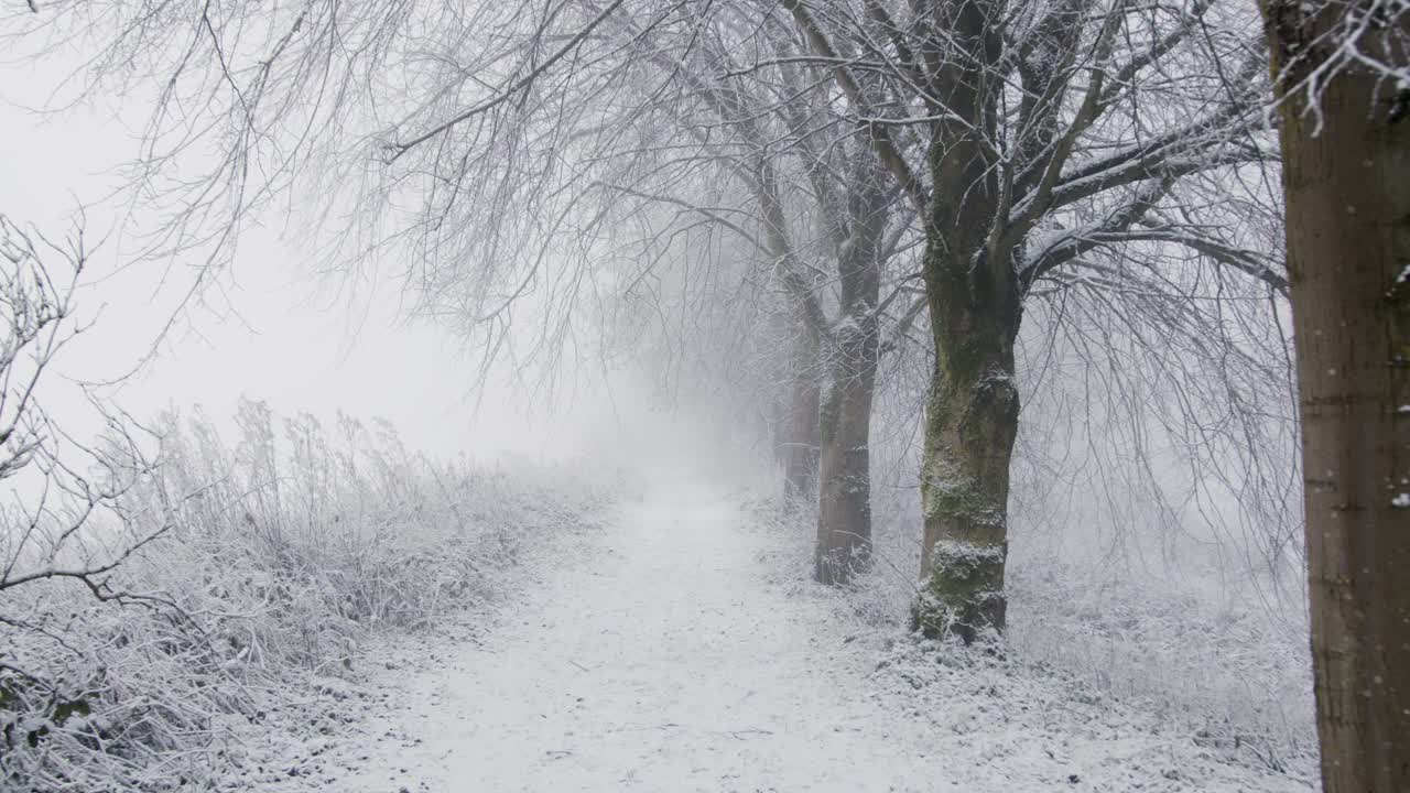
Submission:
<svg viewBox="0 0 1410 793">
<path fill-rule="evenodd" d="M 814 577 L 845 584 L 871 547 L 871 398 L 880 343 L 869 313 L 833 333 L 822 401 L 822 460 Z"/>
</svg>

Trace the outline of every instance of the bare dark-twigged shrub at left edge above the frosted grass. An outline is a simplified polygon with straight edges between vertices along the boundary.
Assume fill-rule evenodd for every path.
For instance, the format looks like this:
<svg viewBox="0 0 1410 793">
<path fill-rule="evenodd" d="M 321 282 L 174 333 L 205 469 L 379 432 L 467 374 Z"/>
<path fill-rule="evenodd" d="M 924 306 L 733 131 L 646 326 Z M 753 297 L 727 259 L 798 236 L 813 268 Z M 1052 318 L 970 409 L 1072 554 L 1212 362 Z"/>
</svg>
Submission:
<svg viewBox="0 0 1410 793">
<path fill-rule="evenodd" d="M 55 360 L 83 330 L 73 295 L 87 255 L 82 227 L 54 244 L 0 214 L 0 481 L 16 492 L 0 512 L 0 591 L 72 580 L 99 600 L 140 600 L 111 586 L 123 562 L 168 529 L 159 519 L 131 521 L 123 507 L 152 471 L 140 428 L 100 409 L 109 440 L 92 444 L 41 404 Z"/>
</svg>

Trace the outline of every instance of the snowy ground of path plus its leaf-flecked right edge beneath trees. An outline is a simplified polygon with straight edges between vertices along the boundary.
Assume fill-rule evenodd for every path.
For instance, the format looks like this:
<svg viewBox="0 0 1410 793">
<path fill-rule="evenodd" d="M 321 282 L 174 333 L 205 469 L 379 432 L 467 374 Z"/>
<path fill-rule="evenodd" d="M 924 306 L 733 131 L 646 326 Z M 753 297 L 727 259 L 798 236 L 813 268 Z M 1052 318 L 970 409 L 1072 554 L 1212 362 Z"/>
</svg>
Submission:
<svg viewBox="0 0 1410 793">
<path fill-rule="evenodd" d="M 330 683 L 329 735 L 268 758 L 258 789 L 1313 787 L 1032 665 L 857 631 L 838 595 L 771 569 L 805 538 L 723 488 L 658 481 L 608 523 L 532 562 L 492 619 L 403 636 L 361 683 Z"/>
</svg>

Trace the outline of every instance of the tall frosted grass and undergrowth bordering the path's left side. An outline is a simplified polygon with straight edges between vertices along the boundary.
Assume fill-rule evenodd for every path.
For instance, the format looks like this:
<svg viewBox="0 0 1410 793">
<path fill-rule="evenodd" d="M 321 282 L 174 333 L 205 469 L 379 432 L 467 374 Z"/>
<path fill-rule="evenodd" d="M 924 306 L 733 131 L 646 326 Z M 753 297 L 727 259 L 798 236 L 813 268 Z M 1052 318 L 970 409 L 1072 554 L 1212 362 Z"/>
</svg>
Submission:
<svg viewBox="0 0 1410 793">
<path fill-rule="evenodd" d="M 587 466 L 430 461 L 389 426 L 254 402 L 235 425 L 234 443 L 199 413 L 157 428 L 157 478 L 124 498 L 166 500 L 149 514 L 172 528 L 113 576 L 128 604 L 58 580 L 0 595 L 0 787 L 219 785 L 290 691 L 338 689 L 369 641 L 489 597 L 527 545 L 595 522 L 622 485 Z"/>
</svg>

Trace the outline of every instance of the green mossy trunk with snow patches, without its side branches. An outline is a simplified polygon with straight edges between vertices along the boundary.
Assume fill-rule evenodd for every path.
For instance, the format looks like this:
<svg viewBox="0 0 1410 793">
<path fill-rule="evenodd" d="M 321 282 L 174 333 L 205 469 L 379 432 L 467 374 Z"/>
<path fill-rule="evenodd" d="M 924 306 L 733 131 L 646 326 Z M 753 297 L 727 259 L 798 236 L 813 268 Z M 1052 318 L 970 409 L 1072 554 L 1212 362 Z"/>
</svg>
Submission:
<svg viewBox="0 0 1410 793">
<path fill-rule="evenodd" d="M 1018 433 L 1014 340 L 1022 292 L 1012 253 L 995 246 L 1004 212 L 993 140 L 1001 80 L 1000 8 L 988 0 L 935 6 L 957 52 L 936 75 L 953 120 L 939 121 L 925 285 L 935 368 L 925 409 L 921 501 L 925 533 L 916 626 L 970 642 L 1004 628 L 1008 466 Z"/>
</svg>

